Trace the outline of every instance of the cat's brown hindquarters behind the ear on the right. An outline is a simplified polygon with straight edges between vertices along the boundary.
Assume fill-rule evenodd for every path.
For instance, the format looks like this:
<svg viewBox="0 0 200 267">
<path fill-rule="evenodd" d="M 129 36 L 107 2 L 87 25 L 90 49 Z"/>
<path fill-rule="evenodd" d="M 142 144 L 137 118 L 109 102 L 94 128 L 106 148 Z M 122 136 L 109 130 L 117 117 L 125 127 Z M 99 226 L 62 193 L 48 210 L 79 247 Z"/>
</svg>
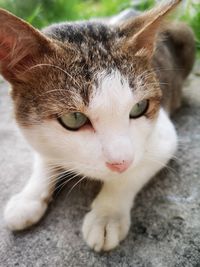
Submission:
<svg viewBox="0 0 200 267">
<path fill-rule="evenodd" d="M 195 38 L 184 23 L 169 23 L 160 34 L 153 67 L 163 91 L 163 106 L 172 114 L 181 105 L 182 87 L 195 60 Z"/>
</svg>

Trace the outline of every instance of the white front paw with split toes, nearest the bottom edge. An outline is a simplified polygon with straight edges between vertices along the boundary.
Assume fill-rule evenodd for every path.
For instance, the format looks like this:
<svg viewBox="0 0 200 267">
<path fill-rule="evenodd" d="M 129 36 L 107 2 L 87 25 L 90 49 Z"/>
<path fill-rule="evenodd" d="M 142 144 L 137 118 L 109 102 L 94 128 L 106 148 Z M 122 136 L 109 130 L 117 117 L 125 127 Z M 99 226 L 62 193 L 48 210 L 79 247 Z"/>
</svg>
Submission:
<svg viewBox="0 0 200 267">
<path fill-rule="evenodd" d="M 129 227 L 129 214 L 105 214 L 93 209 L 84 218 L 82 232 L 88 246 L 99 252 L 114 249 L 126 237 Z"/>
</svg>

